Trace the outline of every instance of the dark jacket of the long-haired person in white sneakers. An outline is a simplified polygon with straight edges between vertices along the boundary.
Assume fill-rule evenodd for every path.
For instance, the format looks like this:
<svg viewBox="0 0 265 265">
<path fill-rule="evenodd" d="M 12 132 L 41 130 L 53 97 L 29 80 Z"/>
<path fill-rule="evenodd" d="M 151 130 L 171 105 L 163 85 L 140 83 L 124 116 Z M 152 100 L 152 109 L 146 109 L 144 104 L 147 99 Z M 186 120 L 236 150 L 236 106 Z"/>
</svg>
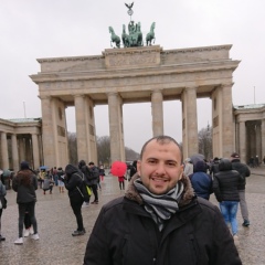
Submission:
<svg viewBox="0 0 265 265">
<path fill-rule="evenodd" d="M 24 184 L 23 179 L 25 178 L 30 178 L 30 184 Z M 35 190 L 38 189 L 35 173 L 30 169 L 20 170 L 12 180 L 12 189 L 17 192 L 17 203 L 35 202 Z"/>
</svg>

